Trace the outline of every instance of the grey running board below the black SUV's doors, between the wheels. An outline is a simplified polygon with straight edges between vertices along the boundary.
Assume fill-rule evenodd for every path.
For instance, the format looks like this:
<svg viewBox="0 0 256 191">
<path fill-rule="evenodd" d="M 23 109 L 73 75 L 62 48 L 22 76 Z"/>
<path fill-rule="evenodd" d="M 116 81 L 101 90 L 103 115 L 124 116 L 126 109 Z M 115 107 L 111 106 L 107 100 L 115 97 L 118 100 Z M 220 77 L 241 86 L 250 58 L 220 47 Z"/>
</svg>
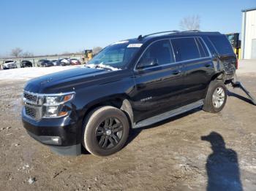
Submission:
<svg viewBox="0 0 256 191">
<path fill-rule="evenodd" d="M 200 100 L 200 101 L 196 101 L 192 104 L 189 104 L 187 106 L 181 106 L 180 108 L 178 109 L 173 109 L 169 112 L 165 112 L 163 114 L 159 114 L 159 115 L 156 115 L 154 117 L 150 117 L 146 120 L 142 120 L 138 123 L 135 123 L 132 128 L 142 128 L 142 127 L 146 127 L 148 125 L 152 125 L 154 123 L 157 123 L 157 122 L 160 122 L 162 120 L 167 120 L 168 118 L 170 117 L 174 117 L 178 114 L 183 114 L 185 112 L 189 112 L 190 110 L 192 109 L 196 109 L 197 107 L 200 107 L 200 106 L 203 106 L 203 99 Z"/>
</svg>

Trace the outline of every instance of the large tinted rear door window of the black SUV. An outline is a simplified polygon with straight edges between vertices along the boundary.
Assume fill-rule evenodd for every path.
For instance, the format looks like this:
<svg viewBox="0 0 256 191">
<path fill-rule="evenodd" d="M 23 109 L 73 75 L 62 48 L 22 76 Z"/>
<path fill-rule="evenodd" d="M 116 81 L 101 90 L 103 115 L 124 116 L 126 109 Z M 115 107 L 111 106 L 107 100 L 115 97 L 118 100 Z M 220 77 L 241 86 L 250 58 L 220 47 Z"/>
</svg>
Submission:
<svg viewBox="0 0 256 191">
<path fill-rule="evenodd" d="M 172 39 L 176 61 L 187 61 L 200 58 L 199 50 L 194 38 Z"/>
</svg>

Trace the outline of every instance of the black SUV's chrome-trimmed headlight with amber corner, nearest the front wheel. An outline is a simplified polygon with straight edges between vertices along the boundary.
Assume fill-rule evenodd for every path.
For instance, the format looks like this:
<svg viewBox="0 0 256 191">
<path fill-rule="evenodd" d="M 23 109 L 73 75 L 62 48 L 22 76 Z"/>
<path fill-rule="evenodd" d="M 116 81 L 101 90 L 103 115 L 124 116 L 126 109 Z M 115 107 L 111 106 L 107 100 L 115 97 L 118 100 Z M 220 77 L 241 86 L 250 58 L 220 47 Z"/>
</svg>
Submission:
<svg viewBox="0 0 256 191">
<path fill-rule="evenodd" d="M 74 98 L 74 93 L 65 95 L 45 95 L 42 101 L 43 117 L 62 117 L 67 115 L 67 111 L 62 111 L 63 104 Z"/>
</svg>

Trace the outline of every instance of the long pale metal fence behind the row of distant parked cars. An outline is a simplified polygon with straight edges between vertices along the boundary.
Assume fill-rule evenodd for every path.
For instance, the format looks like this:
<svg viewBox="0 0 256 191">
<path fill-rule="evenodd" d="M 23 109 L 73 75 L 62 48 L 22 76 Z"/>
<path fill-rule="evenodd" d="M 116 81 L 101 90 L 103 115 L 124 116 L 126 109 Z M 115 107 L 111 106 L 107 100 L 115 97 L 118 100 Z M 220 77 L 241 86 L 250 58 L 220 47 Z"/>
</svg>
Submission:
<svg viewBox="0 0 256 191">
<path fill-rule="evenodd" d="M 49 61 L 53 61 L 53 60 L 59 60 L 62 58 L 75 58 L 78 59 L 79 61 L 81 61 L 81 63 L 83 63 L 82 61 L 82 55 L 74 55 L 74 56 L 50 56 L 50 57 L 37 57 L 37 58 L 5 58 L 5 59 L 0 59 L 0 69 L 3 69 L 2 65 L 4 64 L 4 61 L 15 61 L 18 68 L 20 68 L 20 63 L 21 61 L 31 61 L 31 63 L 33 64 L 34 67 L 37 67 L 37 63 L 39 60 L 49 60 Z"/>
</svg>

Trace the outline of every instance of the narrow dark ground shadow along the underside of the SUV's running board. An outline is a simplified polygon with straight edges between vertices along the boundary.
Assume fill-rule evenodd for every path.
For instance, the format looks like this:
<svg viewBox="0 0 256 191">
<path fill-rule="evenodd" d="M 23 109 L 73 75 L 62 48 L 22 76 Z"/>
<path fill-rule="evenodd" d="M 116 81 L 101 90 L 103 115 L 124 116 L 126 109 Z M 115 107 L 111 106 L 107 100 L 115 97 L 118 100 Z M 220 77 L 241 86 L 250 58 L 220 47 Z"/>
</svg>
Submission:
<svg viewBox="0 0 256 191">
<path fill-rule="evenodd" d="M 172 122 L 172 121 L 178 120 L 182 117 L 188 116 L 189 114 L 194 114 L 195 112 L 200 112 L 201 110 L 202 110 L 202 107 L 197 108 L 197 109 L 192 109 L 191 111 L 188 111 L 184 114 L 178 114 L 175 117 L 170 117 L 167 120 L 162 120 L 160 122 L 154 123 L 153 125 L 148 125 L 148 126 L 142 127 L 142 128 L 130 129 L 129 130 L 129 137 L 128 137 L 128 140 L 127 140 L 126 144 L 124 145 L 124 147 L 127 147 L 127 145 L 129 143 L 131 143 L 133 141 L 133 139 L 135 139 L 140 134 L 140 132 L 143 131 L 143 130 L 146 130 L 148 128 L 157 128 L 158 126 L 164 125 L 167 122 Z"/>
</svg>

